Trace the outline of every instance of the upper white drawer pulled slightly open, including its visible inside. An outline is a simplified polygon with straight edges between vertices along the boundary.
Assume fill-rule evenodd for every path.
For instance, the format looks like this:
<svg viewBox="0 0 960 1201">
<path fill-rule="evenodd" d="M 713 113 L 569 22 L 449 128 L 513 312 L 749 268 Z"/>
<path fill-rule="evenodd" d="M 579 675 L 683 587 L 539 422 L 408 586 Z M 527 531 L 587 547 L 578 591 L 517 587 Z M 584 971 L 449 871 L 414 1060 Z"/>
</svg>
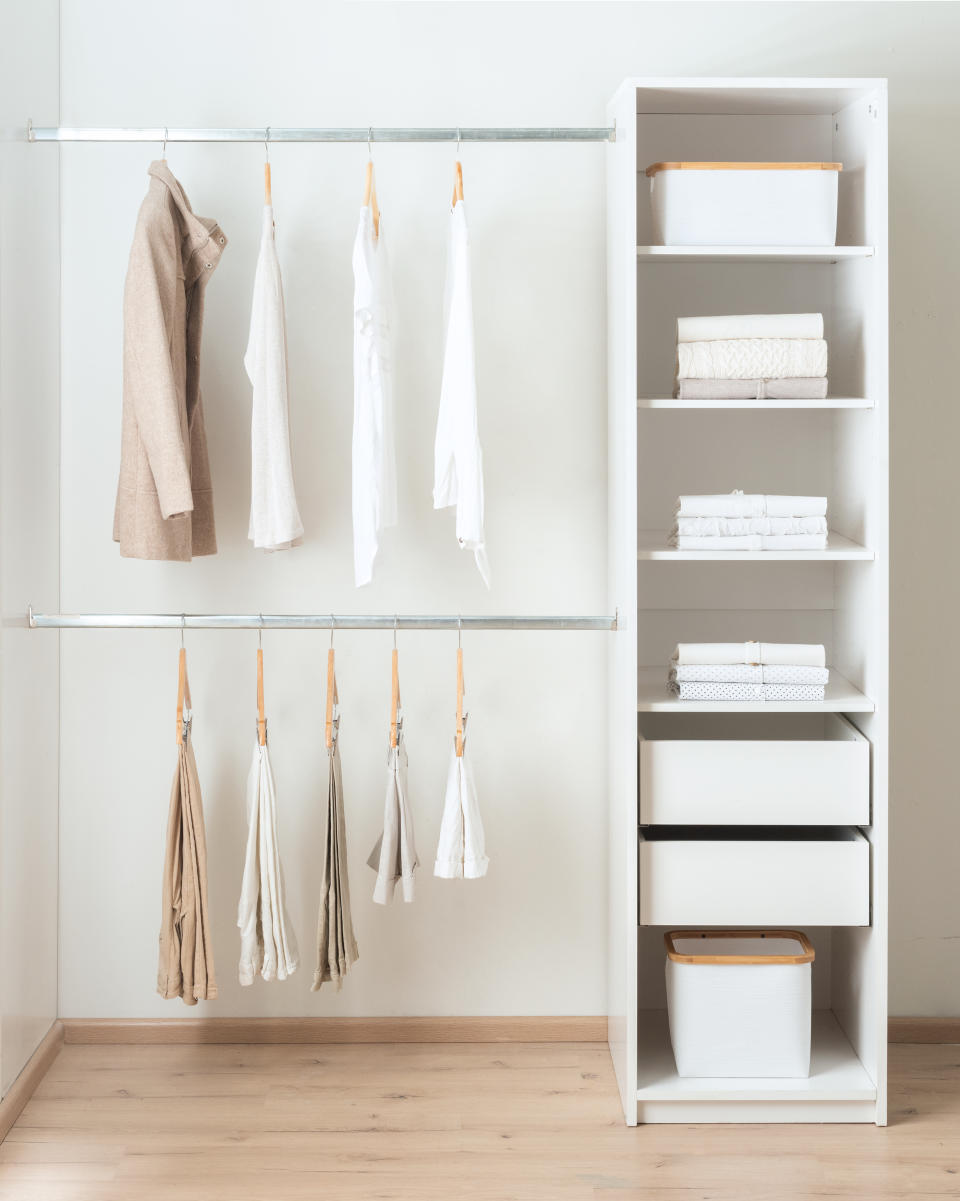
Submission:
<svg viewBox="0 0 960 1201">
<path fill-rule="evenodd" d="M 870 743 L 839 713 L 644 715 L 638 739 L 642 825 L 870 823 Z"/>
</svg>

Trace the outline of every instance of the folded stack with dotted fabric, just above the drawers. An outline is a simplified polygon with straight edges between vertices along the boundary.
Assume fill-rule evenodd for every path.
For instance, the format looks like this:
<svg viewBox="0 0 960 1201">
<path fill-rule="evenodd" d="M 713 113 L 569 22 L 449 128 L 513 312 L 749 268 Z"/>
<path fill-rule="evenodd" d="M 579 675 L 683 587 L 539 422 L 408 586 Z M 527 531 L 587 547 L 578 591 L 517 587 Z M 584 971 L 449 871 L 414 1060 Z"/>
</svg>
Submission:
<svg viewBox="0 0 960 1201">
<path fill-rule="evenodd" d="M 804 643 L 680 643 L 670 689 L 680 700 L 823 700 L 822 646 Z"/>
</svg>

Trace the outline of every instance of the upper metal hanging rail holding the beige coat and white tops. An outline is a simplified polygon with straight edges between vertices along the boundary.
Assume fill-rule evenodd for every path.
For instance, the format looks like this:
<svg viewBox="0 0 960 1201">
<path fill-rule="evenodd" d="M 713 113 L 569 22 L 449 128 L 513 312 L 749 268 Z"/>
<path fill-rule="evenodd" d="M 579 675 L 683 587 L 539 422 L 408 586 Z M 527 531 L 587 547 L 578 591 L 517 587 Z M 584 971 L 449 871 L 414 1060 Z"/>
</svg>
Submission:
<svg viewBox="0 0 960 1201">
<path fill-rule="evenodd" d="M 26 123 L 28 142 L 615 142 L 616 126 L 525 126 L 489 129 L 442 126 L 411 129 L 364 126 L 357 129 L 81 129 L 74 125 L 35 126 Z"/>
</svg>

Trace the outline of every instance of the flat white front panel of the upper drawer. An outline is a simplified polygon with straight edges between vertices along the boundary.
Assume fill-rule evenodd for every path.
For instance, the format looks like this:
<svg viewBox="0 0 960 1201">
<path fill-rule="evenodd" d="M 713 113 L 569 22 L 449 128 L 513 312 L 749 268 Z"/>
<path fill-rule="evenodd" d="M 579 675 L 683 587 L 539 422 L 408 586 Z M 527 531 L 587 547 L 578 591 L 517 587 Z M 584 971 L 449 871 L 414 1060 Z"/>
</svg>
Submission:
<svg viewBox="0 0 960 1201">
<path fill-rule="evenodd" d="M 642 825 L 867 825 L 870 743 L 640 739 Z"/>
</svg>

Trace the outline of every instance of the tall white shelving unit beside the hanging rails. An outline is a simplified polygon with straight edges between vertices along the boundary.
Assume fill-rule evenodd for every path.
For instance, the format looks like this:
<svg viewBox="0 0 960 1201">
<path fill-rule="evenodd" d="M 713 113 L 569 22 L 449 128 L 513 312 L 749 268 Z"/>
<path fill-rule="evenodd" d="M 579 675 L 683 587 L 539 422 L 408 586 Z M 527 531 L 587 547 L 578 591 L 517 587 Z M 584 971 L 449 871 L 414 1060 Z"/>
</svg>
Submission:
<svg viewBox="0 0 960 1201">
<path fill-rule="evenodd" d="M 886 80 L 630 79 L 608 115 L 616 124 L 607 171 L 608 561 L 609 603 L 620 617 L 609 663 L 609 1044 L 624 1112 L 630 1124 L 882 1125 L 889 721 Z M 651 245 L 644 168 L 657 161 L 725 159 L 842 162 L 839 245 Z M 824 315 L 827 400 L 672 398 L 676 318 L 747 312 Z M 735 488 L 828 496 L 828 549 L 720 555 L 669 546 L 664 531 L 678 495 Z M 824 701 L 691 703 L 668 691 L 675 643 L 751 638 L 823 643 L 831 664 Z M 817 952 L 809 1078 L 682 1078 L 664 1014 L 663 928 L 639 920 L 639 715 L 656 713 L 643 719 L 668 723 L 669 730 L 679 730 L 674 723 L 708 723 L 708 736 L 722 740 L 744 737 L 735 715 L 759 712 L 804 728 L 823 721 L 804 715 L 842 713 L 867 739 L 869 820 L 857 827 L 837 821 L 835 833 L 847 829 L 866 841 L 869 872 L 843 883 L 847 895 L 866 894 L 857 895 L 869 925 L 848 925 L 848 913 L 828 906 L 834 925 L 804 927 Z M 751 721 L 764 719 L 744 718 Z M 698 746 L 703 754 L 705 745 Z M 818 746 L 811 741 L 811 753 Z M 822 807 L 816 813 L 801 825 L 830 825 Z M 725 824 L 722 812 L 712 824 Z M 803 846 L 818 849 L 809 841 Z M 716 847 L 722 855 L 722 839 Z M 806 854 L 803 847 L 798 854 Z M 649 865 L 657 862 L 656 852 L 644 861 L 655 871 Z M 818 888 L 819 862 L 811 859 L 811 890 Z M 770 925 L 775 895 L 757 890 L 755 912 L 749 883 L 738 886 L 747 889 L 750 925 Z M 684 912 L 696 913 L 703 926 L 715 924 L 715 895 L 697 902 L 696 879 L 684 880 L 682 889 Z M 776 908 L 780 913 L 785 906 Z"/>
</svg>

